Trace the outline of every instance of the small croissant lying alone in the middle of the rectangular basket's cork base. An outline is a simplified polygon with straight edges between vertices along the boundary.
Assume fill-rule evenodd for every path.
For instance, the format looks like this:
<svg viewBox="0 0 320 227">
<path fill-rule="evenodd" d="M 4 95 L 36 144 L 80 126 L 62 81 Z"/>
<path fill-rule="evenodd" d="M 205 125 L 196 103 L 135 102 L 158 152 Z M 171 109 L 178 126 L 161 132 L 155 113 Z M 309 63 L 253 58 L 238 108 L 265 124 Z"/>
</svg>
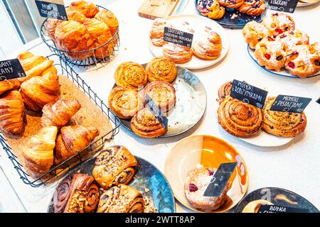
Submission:
<svg viewBox="0 0 320 227">
<path fill-rule="evenodd" d="M 81 104 L 79 101 L 58 100 L 55 104 L 46 104 L 42 109 L 41 126 L 65 126 L 70 119 L 79 111 Z"/>
</svg>

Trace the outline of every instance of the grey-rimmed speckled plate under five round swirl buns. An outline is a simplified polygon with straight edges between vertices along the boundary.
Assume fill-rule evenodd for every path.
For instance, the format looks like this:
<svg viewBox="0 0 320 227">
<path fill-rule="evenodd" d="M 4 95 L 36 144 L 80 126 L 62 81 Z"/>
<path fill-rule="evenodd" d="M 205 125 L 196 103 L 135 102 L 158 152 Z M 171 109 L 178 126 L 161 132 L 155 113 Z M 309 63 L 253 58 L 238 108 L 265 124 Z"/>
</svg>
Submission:
<svg viewBox="0 0 320 227">
<path fill-rule="evenodd" d="M 142 66 L 146 67 L 146 64 Z M 176 89 L 176 106 L 169 111 L 168 132 L 161 138 L 180 135 L 188 131 L 201 120 L 206 111 L 206 89 L 196 74 L 180 66 L 177 66 L 177 74 L 176 80 L 171 83 Z M 120 120 L 124 128 L 132 131 L 130 120 Z"/>
</svg>

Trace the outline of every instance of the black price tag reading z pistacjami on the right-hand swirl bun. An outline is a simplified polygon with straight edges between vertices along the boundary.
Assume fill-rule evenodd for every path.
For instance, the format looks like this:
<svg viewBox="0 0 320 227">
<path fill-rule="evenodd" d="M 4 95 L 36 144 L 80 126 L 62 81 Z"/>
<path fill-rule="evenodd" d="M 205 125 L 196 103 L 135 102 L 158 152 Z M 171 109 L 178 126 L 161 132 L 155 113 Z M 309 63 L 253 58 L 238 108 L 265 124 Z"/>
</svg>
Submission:
<svg viewBox="0 0 320 227">
<path fill-rule="evenodd" d="M 308 106 L 310 98 L 279 94 L 270 107 L 270 111 L 302 113 Z"/>
</svg>

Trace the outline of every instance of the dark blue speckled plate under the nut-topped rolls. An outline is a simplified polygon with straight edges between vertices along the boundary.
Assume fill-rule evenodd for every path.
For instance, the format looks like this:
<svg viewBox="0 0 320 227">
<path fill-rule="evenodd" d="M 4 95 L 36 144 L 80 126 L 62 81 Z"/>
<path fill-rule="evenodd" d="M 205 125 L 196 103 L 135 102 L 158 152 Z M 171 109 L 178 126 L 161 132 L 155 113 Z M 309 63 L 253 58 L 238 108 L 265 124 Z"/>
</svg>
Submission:
<svg viewBox="0 0 320 227">
<path fill-rule="evenodd" d="M 150 162 L 141 157 L 135 157 L 139 162 L 139 169 L 129 186 L 142 192 L 144 196 L 148 196 L 149 199 L 154 202 L 154 206 L 156 206 L 159 213 L 176 212 L 174 195 L 172 194 L 171 187 L 167 182 L 166 177 L 164 177 L 164 175 Z M 66 177 L 77 172 L 86 173 L 87 175 L 92 176 L 93 167 L 95 167 L 95 157 L 92 157 L 90 160 L 75 167 L 75 169 L 69 172 Z M 63 181 L 63 179 L 61 179 L 61 181 Z M 144 189 L 149 189 L 149 192 L 146 194 Z M 48 213 L 53 213 L 53 198 L 50 200 Z"/>
</svg>

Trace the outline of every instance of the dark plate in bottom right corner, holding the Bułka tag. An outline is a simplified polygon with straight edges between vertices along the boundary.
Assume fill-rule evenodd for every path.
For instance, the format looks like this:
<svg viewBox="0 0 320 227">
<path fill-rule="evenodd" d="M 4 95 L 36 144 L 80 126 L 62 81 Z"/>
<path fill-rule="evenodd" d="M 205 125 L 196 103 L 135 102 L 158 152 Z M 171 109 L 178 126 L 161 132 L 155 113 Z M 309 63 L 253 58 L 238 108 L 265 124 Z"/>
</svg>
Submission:
<svg viewBox="0 0 320 227">
<path fill-rule="evenodd" d="M 277 206 L 307 209 L 309 213 L 319 213 L 319 210 L 316 209 L 316 207 L 308 200 L 304 199 L 304 197 L 299 196 L 299 194 L 294 192 L 290 192 L 287 189 L 280 189 L 277 187 L 264 187 L 250 192 L 240 201 L 235 209 L 235 213 L 242 213 L 242 210 L 247 206 L 247 204 L 259 199 L 270 201 L 272 204 Z"/>
</svg>

